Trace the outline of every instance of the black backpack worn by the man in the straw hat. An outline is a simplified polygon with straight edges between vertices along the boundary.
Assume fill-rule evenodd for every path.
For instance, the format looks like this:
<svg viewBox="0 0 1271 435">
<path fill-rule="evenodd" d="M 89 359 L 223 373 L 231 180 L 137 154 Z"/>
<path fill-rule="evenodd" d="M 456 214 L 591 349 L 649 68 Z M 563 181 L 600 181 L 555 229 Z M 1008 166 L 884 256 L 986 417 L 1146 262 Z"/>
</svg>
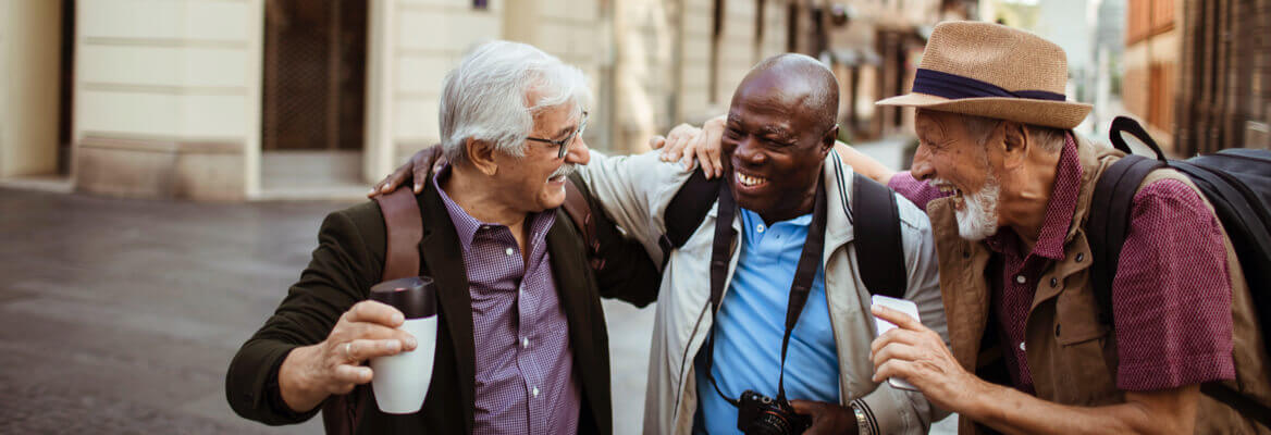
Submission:
<svg viewBox="0 0 1271 435">
<path fill-rule="evenodd" d="M 1149 172 L 1172 168 L 1187 176 L 1210 204 L 1239 257 L 1249 286 L 1254 313 L 1261 321 L 1263 340 L 1271 338 L 1271 151 L 1228 149 L 1187 160 L 1168 160 L 1138 122 L 1127 117 L 1112 120 L 1111 140 L 1126 156 L 1113 163 L 1094 186 L 1087 224 L 1094 265 L 1091 267 L 1094 295 L 1102 321 L 1112 323 L 1112 279 L 1116 276 L 1121 245 L 1130 224 L 1130 206 L 1139 184 Z M 1132 134 L 1157 159 L 1134 155 L 1121 137 Z M 1263 346 L 1271 351 L 1271 343 Z M 1271 408 L 1218 383 L 1201 392 L 1230 404 L 1246 417 L 1271 427 Z"/>
</svg>

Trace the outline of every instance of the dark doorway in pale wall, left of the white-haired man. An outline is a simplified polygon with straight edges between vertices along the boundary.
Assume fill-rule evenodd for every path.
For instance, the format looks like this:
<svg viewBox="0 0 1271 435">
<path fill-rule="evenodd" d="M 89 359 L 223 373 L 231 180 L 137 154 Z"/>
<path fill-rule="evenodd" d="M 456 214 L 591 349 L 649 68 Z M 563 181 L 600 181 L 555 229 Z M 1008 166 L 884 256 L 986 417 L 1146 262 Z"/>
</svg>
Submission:
<svg viewBox="0 0 1271 435">
<path fill-rule="evenodd" d="M 361 184 L 367 0 L 267 0 L 262 187 Z"/>
</svg>

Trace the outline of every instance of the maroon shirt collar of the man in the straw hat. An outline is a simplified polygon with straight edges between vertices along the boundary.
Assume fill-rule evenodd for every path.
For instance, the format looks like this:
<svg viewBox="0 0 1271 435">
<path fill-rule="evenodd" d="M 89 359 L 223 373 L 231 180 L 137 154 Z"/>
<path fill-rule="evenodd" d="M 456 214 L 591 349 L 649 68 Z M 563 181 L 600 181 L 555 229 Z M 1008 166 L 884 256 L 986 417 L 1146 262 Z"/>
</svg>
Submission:
<svg viewBox="0 0 1271 435">
<path fill-rule="evenodd" d="M 1059 154 L 1059 165 L 1055 169 L 1055 187 L 1046 204 L 1046 215 L 1042 218 L 1041 231 L 1037 234 L 1037 244 L 1033 245 L 1030 256 L 1064 259 L 1064 240 L 1073 224 L 1080 183 L 1082 163 L 1077 156 L 1077 141 L 1073 140 L 1070 132 L 1064 134 L 1064 148 Z M 993 251 L 1004 252 L 1016 245 L 1014 235 L 1014 231 L 1004 229 L 985 242 Z"/>
</svg>

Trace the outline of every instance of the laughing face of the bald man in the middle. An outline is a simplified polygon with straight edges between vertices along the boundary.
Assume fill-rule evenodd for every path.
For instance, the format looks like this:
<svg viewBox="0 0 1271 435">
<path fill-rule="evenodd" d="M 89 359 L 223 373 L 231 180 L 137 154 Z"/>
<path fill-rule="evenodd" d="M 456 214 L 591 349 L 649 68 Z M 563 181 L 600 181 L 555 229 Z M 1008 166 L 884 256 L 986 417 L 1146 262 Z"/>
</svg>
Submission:
<svg viewBox="0 0 1271 435">
<path fill-rule="evenodd" d="M 737 205 L 769 224 L 811 212 L 821 165 L 838 134 L 833 114 L 825 122 L 824 112 L 807 107 L 810 80 L 788 72 L 747 75 L 733 94 L 723 132 L 723 160 Z"/>
</svg>

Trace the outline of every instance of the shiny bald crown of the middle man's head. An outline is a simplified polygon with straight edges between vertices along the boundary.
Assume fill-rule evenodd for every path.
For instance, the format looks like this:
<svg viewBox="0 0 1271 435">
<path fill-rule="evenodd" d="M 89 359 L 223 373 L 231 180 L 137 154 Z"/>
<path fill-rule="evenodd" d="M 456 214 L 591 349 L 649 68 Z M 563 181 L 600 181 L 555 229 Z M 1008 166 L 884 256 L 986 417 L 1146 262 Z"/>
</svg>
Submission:
<svg viewBox="0 0 1271 435">
<path fill-rule="evenodd" d="M 793 117 L 806 117 L 819 131 L 834 126 L 839 114 L 839 81 L 825 64 L 798 53 L 768 57 L 750 69 L 737 85 L 733 104 L 742 94 L 768 94 Z"/>
</svg>

